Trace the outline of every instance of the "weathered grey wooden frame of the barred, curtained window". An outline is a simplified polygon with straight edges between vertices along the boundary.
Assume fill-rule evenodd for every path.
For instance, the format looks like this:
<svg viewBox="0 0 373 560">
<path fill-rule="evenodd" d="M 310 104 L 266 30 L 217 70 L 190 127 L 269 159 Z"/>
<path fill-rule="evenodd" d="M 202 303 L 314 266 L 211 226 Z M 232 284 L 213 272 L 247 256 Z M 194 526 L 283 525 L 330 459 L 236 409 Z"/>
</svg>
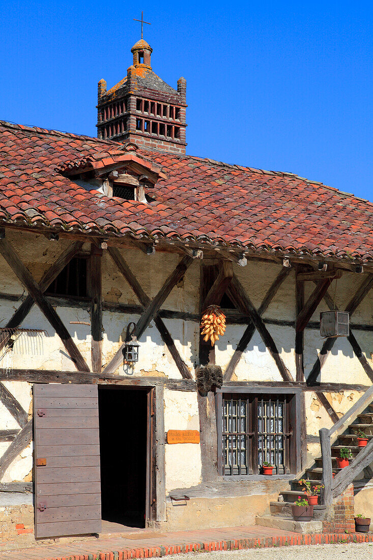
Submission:
<svg viewBox="0 0 373 560">
<path fill-rule="evenodd" d="M 259 475 L 258 473 L 258 442 L 255 441 L 254 452 L 252 453 L 252 458 L 248 457 L 248 467 L 253 470 L 250 474 L 241 475 L 226 475 L 224 474 L 223 465 L 223 434 L 222 434 L 222 406 L 223 406 L 223 395 L 224 394 L 241 394 L 241 395 L 288 395 L 291 398 L 288 403 L 288 413 L 290 419 L 290 430 L 292 430 L 291 436 L 291 450 L 288 453 L 289 463 L 288 468 L 289 473 L 286 474 L 274 474 L 271 477 L 265 477 L 264 475 Z M 218 473 L 224 480 L 263 480 L 263 479 L 274 479 L 274 478 L 292 478 L 297 473 L 301 472 L 301 433 L 302 427 L 305 430 L 306 418 L 302 416 L 301 407 L 301 390 L 297 388 L 281 388 L 281 387 L 254 387 L 254 386 L 239 386 L 239 385 L 229 385 L 222 386 L 221 389 L 217 389 L 215 393 L 215 408 L 216 408 L 216 423 L 217 423 L 217 464 Z M 253 410 L 254 407 L 251 407 Z M 254 416 L 254 415 L 253 415 Z M 256 414 L 255 414 L 256 417 Z M 250 419 L 251 424 L 253 423 L 253 418 Z M 306 433 L 306 432 L 304 432 Z"/>
</svg>

